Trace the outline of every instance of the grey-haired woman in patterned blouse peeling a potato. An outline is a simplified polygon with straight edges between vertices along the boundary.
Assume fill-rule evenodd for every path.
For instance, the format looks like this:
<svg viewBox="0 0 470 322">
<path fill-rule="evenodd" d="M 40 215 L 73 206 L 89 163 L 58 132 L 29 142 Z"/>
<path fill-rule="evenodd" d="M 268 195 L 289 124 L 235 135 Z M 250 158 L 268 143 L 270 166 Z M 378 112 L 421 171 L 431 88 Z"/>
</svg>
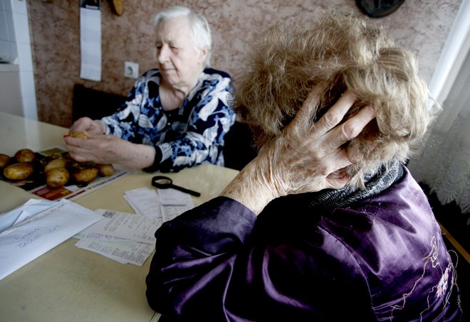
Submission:
<svg viewBox="0 0 470 322">
<path fill-rule="evenodd" d="M 146 171 L 224 165 L 224 135 L 235 122 L 231 77 L 209 68 L 211 31 L 182 6 L 155 15 L 157 68 L 135 82 L 127 101 L 100 120 L 78 119 L 66 137 L 76 161 L 118 163 Z"/>
</svg>

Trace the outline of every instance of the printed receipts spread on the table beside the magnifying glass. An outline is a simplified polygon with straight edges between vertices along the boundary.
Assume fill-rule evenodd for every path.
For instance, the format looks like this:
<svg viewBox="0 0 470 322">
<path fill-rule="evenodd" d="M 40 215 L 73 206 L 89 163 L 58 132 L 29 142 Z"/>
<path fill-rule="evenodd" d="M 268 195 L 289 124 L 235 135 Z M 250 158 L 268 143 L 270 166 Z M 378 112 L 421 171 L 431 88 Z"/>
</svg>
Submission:
<svg viewBox="0 0 470 322">
<path fill-rule="evenodd" d="M 155 231 L 168 220 L 194 208 L 187 193 L 174 189 L 139 188 L 124 195 L 135 214 L 96 210 L 103 220 L 75 237 L 77 247 L 122 264 L 142 266 L 155 249 Z"/>
</svg>

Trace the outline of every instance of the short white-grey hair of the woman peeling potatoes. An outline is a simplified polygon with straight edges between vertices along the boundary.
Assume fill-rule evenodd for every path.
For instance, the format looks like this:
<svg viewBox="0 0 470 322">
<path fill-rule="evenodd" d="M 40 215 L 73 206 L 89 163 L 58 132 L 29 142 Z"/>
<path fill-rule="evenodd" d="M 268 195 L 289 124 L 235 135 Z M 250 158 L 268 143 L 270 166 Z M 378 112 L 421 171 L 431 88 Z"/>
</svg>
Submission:
<svg viewBox="0 0 470 322">
<path fill-rule="evenodd" d="M 194 48 L 202 49 L 207 46 L 206 67 L 209 67 L 211 65 L 212 46 L 211 28 L 209 27 L 207 19 L 202 16 L 202 14 L 198 14 L 185 6 L 172 6 L 157 12 L 152 18 L 152 26 L 156 30 L 162 21 L 180 16 L 189 16 L 189 23 L 192 30 L 192 33 L 189 34 L 189 39 L 194 45 Z"/>
</svg>

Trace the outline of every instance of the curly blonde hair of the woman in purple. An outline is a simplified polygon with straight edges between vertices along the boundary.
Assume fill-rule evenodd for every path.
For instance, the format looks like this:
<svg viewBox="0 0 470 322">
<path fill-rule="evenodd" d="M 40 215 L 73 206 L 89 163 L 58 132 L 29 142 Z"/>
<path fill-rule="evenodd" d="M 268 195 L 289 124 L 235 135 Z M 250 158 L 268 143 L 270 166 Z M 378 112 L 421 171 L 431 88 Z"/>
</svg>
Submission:
<svg viewBox="0 0 470 322">
<path fill-rule="evenodd" d="M 246 68 L 235 78 L 235 112 L 261 147 L 281 134 L 313 86 L 327 90 L 313 121 L 346 90 L 357 96 L 347 117 L 370 104 L 377 117 L 350 141 L 364 159 L 348 167 L 352 186 L 396 157 L 407 161 L 432 115 L 427 85 L 412 53 L 397 47 L 384 28 L 347 13 L 318 11 L 305 21 L 276 23 L 258 34 Z M 372 141 L 372 144 L 371 144 Z"/>
</svg>

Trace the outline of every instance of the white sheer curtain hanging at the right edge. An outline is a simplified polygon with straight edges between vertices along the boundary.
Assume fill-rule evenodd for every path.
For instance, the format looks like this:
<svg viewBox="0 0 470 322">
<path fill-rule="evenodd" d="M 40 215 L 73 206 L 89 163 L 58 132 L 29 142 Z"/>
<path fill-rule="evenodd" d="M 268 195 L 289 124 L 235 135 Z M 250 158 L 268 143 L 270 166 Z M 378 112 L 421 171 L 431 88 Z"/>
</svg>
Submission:
<svg viewBox="0 0 470 322">
<path fill-rule="evenodd" d="M 470 224 L 470 1 L 464 0 L 429 86 L 442 112 L 408 167 L 442 205 L 455 202 Z M 434 93 L 433 93 L 434 92 Z"/>
</svg>

